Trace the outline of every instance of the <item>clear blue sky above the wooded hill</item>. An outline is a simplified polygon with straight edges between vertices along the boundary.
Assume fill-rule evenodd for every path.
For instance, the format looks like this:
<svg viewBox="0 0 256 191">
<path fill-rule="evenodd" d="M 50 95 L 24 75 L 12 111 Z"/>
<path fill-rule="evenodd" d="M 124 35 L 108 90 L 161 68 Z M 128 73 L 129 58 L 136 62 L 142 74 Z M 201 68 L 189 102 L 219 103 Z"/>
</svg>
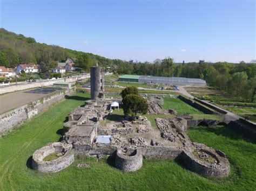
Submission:
<svg viewBox="0 0 256 191">
<path fill-rule="evenodd" d="M 0 0 L 6 30 L 106 58 L 255 59 L 255 1 Z"/>
</svg>

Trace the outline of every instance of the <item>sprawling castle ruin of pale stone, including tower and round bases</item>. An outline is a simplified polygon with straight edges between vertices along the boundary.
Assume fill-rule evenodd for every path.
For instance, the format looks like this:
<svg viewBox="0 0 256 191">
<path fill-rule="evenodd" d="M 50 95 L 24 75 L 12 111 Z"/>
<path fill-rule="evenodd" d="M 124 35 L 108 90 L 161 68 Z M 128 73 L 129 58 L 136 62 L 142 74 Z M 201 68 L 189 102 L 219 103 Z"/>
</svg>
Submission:
<svg viewBox="0 0 256 191">
<path fill-rule="evenodd" d="M 102 69 L 91 69 L 94 75 L 102 76 Z M 62 142 L 48 144 L 35 151 L 32 167 L 40 172 L 53 173 L 68 167 L 76 155 L 102 158 L 115 157 L 116 167 L 124 172 L 137 171 L 146 159 L 174 159 L 198 174 L 222 178 L 230 172 L 225 154 L 204 144 L 192 143 L 186 135 L 188 122 L 184 118 L 156 118 L 157 128 L 146 117 L 135 121 L 125 118 L 106 123 L 113 100 L 104 98 L 104 79 L 99 76 L 91 80 L 97 87 L 91 90 L 92 100 L 85 101 L 64 123 Z M 161 108 L 163 99 L 148 100 L 150 114 L 167 114 Z M 191 123 L 191 122 L 190 122 Z M 54 155 L 52 160 L 46 160 Z M 48 158 L 49 159 L 49 158 Z M 83 164 L 78 164 L 83 167 Z"/>
</svg>

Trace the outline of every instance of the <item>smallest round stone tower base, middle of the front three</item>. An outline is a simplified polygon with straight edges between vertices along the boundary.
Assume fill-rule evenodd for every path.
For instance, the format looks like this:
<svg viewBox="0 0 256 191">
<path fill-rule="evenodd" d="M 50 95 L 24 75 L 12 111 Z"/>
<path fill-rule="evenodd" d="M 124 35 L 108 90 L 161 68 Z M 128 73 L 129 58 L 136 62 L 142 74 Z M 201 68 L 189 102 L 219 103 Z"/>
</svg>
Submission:
<svg viewBox="0 0 256 191">
<path fill-rule="evenodd" d="M 127 153 L 117 149 L 116 167 L 124 172 L 137 171 L 142 167 L 142 149 L 137 148 Z"/>
</svg>

